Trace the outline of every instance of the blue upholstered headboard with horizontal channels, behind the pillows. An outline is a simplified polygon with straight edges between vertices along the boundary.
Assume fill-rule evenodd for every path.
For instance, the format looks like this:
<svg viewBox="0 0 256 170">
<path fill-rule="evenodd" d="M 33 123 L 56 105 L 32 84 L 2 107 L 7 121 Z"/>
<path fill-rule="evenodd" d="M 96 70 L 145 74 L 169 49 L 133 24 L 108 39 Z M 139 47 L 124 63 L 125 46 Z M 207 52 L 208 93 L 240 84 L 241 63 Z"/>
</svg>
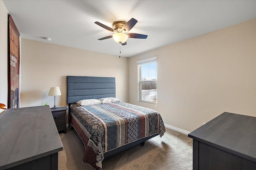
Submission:
<svg viewBox="0 0 256 170">
<path fill-rule="evenodd" d="M 116 97 L 116 78 L 67 76 L 68 104 L 83 99 Z"/>
</svg>

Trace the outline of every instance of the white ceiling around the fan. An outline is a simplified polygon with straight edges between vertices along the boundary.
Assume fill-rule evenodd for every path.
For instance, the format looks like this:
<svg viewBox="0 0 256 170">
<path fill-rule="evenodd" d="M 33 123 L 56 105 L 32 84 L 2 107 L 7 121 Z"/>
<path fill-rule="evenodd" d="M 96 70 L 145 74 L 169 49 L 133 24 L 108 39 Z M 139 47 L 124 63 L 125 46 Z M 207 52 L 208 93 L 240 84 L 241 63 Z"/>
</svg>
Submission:
<svg viewBox="0 0 256 170">
<path fill-rule="evenodd" d="M 129 31 L 148 35 L 127 40 L 122 57 L 183 41 L 256 18 L 256 0 L 3 0 L 22 38 L 119 55 L 112 27 L 114 21 L 138 23 Z M 52 41 L 45 41 L 49 37 Z"/>
</svg>

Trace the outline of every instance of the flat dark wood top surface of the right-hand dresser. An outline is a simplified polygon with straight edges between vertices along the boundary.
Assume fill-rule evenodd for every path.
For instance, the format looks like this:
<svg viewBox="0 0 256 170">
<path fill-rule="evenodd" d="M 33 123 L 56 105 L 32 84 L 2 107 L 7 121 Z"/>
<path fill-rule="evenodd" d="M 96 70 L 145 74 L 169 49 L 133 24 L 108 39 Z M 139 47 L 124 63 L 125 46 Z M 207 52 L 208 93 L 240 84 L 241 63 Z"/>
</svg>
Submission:
<svg viewBox="0 0 256 170">
<path fill-rule="evenodd" d="M 188 137 L 256 162 L 256 117 L 224 112 Z"/>
</svg>

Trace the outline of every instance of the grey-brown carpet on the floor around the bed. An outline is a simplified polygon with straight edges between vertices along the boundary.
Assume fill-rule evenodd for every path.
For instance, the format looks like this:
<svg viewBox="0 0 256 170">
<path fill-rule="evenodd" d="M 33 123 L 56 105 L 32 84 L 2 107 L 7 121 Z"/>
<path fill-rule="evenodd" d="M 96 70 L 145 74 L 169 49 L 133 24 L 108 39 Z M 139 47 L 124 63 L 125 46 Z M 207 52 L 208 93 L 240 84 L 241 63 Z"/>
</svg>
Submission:
<svg viewBox="0 0 256 170">
<path fill-rule="evenodd" d="M 74 129 L 60 133 L 63 150 L 59 170 L 93 170 L 82 163 L 84 146 Z M 102 170 L 192 170 L 192 139 L 166 128 L 162 138 L 154 137 L 102 161 Z"/>
</svg>

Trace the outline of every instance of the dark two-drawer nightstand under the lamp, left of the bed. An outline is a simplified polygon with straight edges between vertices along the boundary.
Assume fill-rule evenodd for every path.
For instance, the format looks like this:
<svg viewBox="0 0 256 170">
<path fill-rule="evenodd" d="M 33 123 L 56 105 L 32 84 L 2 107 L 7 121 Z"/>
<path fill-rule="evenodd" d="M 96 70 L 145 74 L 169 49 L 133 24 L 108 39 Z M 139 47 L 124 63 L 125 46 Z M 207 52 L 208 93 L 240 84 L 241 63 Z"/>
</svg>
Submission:
<svg viewBox="0 0 256 170">
<path fill-rule="evenodd" d="M 67 107 L 59 107 L 58 109 L 51 109 L 58 131 L 67 133 Z"/>
</svg>

